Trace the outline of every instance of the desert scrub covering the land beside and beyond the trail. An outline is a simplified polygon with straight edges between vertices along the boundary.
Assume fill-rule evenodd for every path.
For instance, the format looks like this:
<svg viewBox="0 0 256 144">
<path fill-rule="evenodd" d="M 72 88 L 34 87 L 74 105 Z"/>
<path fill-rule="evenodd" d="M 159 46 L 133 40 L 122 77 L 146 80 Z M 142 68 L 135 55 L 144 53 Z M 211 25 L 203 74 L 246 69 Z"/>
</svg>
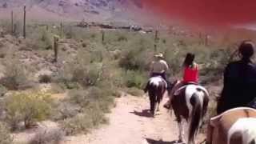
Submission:
<svg viewBox="0 0 256 144">
<path fill-rule="evenodd" d="M 107 123 L 105 114 L 114 106 L 114 98 L 122 92 L 143 94 L 150 62 L 159 52 L 170 65 L 170 81 L 180 78 L 186 53 L 196 54 L 200 82 L 210 87 L 221 80 L 238 44 L 228 41 L 229 37 L 205 39 L 174 30 L 159 30 L 158 37 L 154 33 L 104 30 L 102 38 L 98 28 L 68 23 L 63 27 L 29 24 L 24 39 L 21 26 L 13 35 L 9 26 L 8 22 L 0 25 L 0 127 L 10 128 L 0 131 L 0 139 L 6 138 L 7 143 L 11 141 L 6 136 L 9 131 L 29 129 L 46 120 L 57 122 L 65 135 L 87 134 Z M 54 37 L 58 37 L 57 62 Z M 49 137 L 40 133 L 36 138 L 49 142 Z"/>
</svg>

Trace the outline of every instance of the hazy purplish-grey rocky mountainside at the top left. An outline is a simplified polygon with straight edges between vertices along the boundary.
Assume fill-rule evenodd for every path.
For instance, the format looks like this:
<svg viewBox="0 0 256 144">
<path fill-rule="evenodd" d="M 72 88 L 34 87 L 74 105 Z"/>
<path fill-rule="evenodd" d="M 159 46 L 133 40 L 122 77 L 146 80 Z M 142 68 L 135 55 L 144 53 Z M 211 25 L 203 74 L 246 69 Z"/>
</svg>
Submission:
<svg viewBox="0 0 256 144">
<path fill-rule="evenodd" d="M 0 18 L 4 12 L 20 10 L 26 5 L 34 19 L 57 17 L 78 20 L 127 20 L 130 11 L 142 9 L 138 0 L 0 0 Z M 51 18 L 52 17 L 52 18 Z"/>
</svg>

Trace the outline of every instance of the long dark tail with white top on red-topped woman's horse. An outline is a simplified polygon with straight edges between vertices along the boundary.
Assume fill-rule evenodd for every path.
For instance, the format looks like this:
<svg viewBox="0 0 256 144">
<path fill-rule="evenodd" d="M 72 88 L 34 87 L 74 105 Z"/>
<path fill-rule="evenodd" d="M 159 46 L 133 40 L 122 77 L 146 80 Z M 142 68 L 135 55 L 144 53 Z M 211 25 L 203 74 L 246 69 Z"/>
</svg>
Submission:
<svg viewBox="0 0 256 144">
<path fill-rule="evenodd" d="M 190 114 L 190 129 L 188 144 L 194 142 L 195 135 L 198 131 L 198 127 L 202 121 L 202 105 L 203 98 L 202 93 L 197 91 L 190 98 L 190 103 L 192 105 L 192 112 Z"/>
</svg>

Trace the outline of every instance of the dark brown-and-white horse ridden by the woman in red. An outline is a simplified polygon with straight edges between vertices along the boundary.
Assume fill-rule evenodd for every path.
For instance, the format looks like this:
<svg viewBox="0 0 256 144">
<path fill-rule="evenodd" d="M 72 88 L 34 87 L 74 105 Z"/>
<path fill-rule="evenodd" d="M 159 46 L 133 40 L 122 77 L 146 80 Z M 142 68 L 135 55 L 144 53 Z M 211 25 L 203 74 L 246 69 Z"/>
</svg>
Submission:
<svg viewBox="0 0 256 144">
<path fill-rule="evenodd" d="M 178 142 L 183 142 L 182 118 L 184 118 L 190 124 L 187 144 L 194 144 L 198 127 L 206 114 L 209 102 L 208 91 L 202 86 L 188 83 L 174 91 L 170 102 L 178 122 Z"/>
</svg>

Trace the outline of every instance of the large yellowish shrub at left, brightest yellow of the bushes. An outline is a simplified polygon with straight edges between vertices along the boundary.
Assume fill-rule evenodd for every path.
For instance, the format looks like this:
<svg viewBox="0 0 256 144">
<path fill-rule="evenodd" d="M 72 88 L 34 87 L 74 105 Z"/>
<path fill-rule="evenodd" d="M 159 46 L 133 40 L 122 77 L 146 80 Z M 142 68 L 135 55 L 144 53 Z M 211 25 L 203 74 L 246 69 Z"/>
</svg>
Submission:
<svg viewBox="0 0 256 144">
<path fill-rule="evenodd" d="M 42 121 L 50 116 L 52 99 L 48 94 L 21 93 L 13 94 L 5 99 L 6 122 L 15 130 L 19 122 L 29 128 L 34 122 Z"/>
</svg>

